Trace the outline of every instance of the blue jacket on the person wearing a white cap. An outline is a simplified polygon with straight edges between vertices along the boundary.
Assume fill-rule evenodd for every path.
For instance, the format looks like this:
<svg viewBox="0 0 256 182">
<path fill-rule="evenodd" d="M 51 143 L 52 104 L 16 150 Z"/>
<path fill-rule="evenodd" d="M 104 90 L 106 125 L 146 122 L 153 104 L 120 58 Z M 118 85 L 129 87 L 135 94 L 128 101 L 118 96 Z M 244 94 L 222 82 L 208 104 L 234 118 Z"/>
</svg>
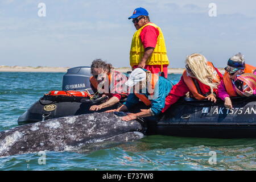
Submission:
<svg viewBox="0 0 256 182">
<path fill-rule="evenodd" d="M 158 115 L 161 113 L 165 105 L 166 97 L 168 96 L 168 93 L 171 91 L 171 88 L 172 88 L 171 81 L 162 76 L 159 76 L 158 83 L 156 83 L 156 88 L 154 89 L 155 90 L 154 94 L 155 96 L 158 96 L 158 97 L 151 100 L 150 98 L 148 98 L 149 96 L 148 90 L 146 90 L 146 93 L 142 93 L 148 98 L 148 100 L 151 101 L 150 109 L 152 113 L 154 113 L 154 115 Z M 127 97 L 126 102 L 123 104 L 126 105 L 128 109 L 130 109 L 138 102 L 139 102 L 139 98 L 134 93 L 130 93 Z"/>
</svg>

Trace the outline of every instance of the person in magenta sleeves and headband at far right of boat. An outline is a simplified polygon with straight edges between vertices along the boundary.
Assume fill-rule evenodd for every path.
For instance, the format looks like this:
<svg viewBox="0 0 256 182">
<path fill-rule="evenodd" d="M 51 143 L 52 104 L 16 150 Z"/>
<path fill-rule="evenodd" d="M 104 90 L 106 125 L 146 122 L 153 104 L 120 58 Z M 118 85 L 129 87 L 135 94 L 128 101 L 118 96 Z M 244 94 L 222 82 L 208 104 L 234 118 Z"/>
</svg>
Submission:
<svg viewBox="0 0 256 182">
<path fill-rule="evenodd" d="M 236 82 L 237 76 L 243 73 L 254 73 L 254 75 L 256 75 L 255 69 L 256 67 L 245 64 L 245 59 L 241 53 L 237 53 L 233 57 L 230 57 L 228 60 L 228 66 L 225 67 L 226 72 L 224 74 L 224 78 L 218 86 L 218 97 L 224 101 L 225 107 L 232 109 L 233 106 L 230 97 L 239 96 L 236 92 L 235 84 L 242 84 L 242 82 Z M 251 94 L 256 94 L 256 90 L 245 91 L 243 94 L 245 96 L 251 96 Z"/>
</svg>

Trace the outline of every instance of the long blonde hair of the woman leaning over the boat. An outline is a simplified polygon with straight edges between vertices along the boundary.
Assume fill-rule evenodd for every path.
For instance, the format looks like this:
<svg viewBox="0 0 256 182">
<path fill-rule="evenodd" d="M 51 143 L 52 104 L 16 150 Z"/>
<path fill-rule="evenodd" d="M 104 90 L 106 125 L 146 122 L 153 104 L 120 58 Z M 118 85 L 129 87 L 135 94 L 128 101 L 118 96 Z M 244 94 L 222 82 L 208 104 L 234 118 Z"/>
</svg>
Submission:
<svg viewBox="0 0 256 182">
<path fill-rule="evenodd" d="M 193 75 L 200 82 L 208 85 L 210 87 L 210 92 L 213 93 L 213 89 L 218 87 L 218 83 L 213 82 L 215 78 L 213 74 L 214 69 L 208 66 L 207 59 L 204 57 L 204 55 L 192 53 L 192 55 L 187 56 L 186 64 L 188 64 Z"/>
</svg>

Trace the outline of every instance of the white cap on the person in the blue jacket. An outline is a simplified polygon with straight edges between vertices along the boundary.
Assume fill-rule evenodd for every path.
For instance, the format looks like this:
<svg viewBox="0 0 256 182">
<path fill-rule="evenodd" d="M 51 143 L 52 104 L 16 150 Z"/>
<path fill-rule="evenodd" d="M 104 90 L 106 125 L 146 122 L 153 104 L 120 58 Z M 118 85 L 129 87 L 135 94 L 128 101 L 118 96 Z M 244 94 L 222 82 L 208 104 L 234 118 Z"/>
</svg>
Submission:
<svg viewBox="0 0 256 182">
<path fill-rule="evenodd" d="M 128 80 L 125 82 L 127 86 L 134 86 L 139 81 L 146 80 L 146 72 L 143 71 L 141 68 L 136 68 L 134 71 L 131 72 Z"/>
</svg>

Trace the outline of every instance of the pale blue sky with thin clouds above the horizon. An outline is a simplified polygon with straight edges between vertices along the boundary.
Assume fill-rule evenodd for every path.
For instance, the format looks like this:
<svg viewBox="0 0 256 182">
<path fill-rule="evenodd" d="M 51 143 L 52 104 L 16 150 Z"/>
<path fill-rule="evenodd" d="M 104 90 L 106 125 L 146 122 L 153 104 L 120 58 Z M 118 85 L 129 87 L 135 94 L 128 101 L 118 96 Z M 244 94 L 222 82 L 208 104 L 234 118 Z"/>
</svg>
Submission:
<svg viewBox="0 0 256 182">
<path fill-rule="evenodd" d="M 39 3 L 46 16 L 38 15 Z M 0 0 L 0 65 L 77 67 L 102 59 L 129 67 L 136 30 L 127 18 L 137 7 L 162 29 L 169 68 L 184 68 L 191 53 L 222 68 L 241 52 L 255 65 L 254 0 Z"/>
</svg>

